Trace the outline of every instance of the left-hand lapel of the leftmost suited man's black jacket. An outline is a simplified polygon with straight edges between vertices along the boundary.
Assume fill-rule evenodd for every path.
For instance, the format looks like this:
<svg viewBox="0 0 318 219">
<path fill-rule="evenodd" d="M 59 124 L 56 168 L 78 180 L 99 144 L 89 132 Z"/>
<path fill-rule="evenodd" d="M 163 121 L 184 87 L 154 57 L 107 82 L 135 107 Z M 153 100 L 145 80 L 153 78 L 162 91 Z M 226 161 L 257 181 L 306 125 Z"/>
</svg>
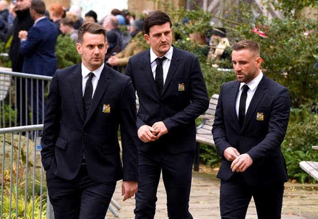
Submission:
<svg viewBox="0 0 318 219">
<path fill-rule="evenodd" d="M 84 103 L 83 103 L 83 94 L 82 94 L 82 76 L 81 76 L 81 67 L 80 64 L 76 68 L 74 72 L 72 72 L 72 90 L 73 96 L 75 99 L 76 106 L 79 110 L 79 115 L 82 121 L 85 120 L 85 112 L 84 112 Z"/>
</svg>

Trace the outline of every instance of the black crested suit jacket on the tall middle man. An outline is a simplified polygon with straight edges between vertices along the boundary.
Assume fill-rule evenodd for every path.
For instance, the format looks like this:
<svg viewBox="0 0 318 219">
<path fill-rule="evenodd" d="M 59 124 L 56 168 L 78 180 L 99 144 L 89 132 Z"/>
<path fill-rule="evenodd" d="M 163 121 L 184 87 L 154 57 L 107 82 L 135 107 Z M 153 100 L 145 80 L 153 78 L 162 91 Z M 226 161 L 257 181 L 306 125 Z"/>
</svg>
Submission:
<svg viewBox="0 0 318 219">
<path fill-rule="evenodd" d="M 195 118 L 209 107 L 209 98 L 196 56 L 173 48 L 172 59 L 162 94 L 155 83 L 150 63 L 150 50 L 132 56 L 125 74 L 130 76 L 139 97 L 137 129 L 163 121 L 168 133 L 158 141 L 139 141 L 139 150 L 149 151 L 166 145 L 178 154 L 195 147 Z"/>
</svg>

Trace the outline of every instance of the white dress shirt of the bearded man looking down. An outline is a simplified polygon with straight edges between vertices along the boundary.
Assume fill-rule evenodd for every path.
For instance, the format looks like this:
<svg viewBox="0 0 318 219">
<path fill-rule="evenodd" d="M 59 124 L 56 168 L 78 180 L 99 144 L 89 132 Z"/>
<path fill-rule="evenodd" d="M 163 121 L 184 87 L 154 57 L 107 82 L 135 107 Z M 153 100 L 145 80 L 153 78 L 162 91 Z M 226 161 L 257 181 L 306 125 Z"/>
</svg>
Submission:
<svg viewBox="0 0 318 219">
<path fill-rule="evenodd" d="M 259 70 L 259 74 L 253 80 L 251 80 L 250 82 L 247 83 L 247 86 L 249 89 L 247 91 L 247 97 L 246 97 L 245 114 L 246 114 L 247 109 L 249 107 L 249 104 L 253 98 L 253 95 L 256 91 L 256 88 L 257 88 L 259 82 L 262 80 L 262 77 L 263 77 L 263 72 L 261 70 Z M 236 106 L 235 106 L 238 118 L 239 118 L 239 99 L 240 99 L 240 95 L 242 93 L 243 85 L 245 85 L 245 83 L 240 83 L 240 85 L 239 85 L 239 93 L 237 96 L 237 101 L 236 101 Z"/>
</svg>

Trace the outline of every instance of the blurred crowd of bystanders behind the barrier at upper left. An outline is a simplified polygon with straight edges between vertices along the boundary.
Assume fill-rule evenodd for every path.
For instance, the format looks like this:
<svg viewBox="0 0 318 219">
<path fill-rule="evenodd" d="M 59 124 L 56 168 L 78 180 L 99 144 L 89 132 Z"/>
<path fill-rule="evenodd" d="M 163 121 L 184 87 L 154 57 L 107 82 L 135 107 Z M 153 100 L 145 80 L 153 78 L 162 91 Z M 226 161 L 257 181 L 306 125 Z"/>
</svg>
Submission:
<svg viewBox="0 0 318 219">
<path fill-rule="evenodd" d="M 82 17 L 81 8 L 77 5 L 66 8 L 60 3 L 52 3 L 49 8 L 44 4 L 39 9 L 35 4 L 37 1 L 33 2 L 33 8 L 32 2 L 12 0 L 9 5 L 7 0 L 0 0 L 0 40 L 9 45 L 9 58 L 14 72 L 53 76 L 57 69 L 57 37 L 70 37 L 76 44 L 79 42 L 78 29 L 87 22 L 99 23 L 106 30 L 108 50 L 104 61 L 114 69 L 123 71 L 129 57 L 146 49 L 133 40 L 135 36 L 142 35 L 143 21 L 135 20 L 135 16 L 127 10 L 113 9 L 98 20 L 93 10 L 87 11 Z M 55 28 L 52 29 L 51 24 L 54 24 Z M 26 92 L 31 92 L 31 81 L 25 82 L 26 79 L 23 78 L 16 80 L 17 100 L 23 97 L 16 103 L 18 124 L 42 123 L 43 103 L 39 97 L 42 85 L 32 91 L 35 92 L 33 113 L 32 117 L 28 118 L 29 113 L 24 111 L 29 108 L 24 97 Z"/>
</svg>

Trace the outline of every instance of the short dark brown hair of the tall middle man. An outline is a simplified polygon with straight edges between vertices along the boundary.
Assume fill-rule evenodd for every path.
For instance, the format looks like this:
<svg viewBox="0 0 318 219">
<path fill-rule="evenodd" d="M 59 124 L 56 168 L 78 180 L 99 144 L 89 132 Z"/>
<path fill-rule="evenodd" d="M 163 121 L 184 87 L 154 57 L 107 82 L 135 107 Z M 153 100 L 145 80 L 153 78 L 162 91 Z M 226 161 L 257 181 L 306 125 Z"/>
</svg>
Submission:
<svg viewBox="0 0 318 219">
<path fill-rule="evenodd" d="M 150 12 L 144 20 L 145 33 L 149 35 L 149 30 L 152 26 L 165 24 L 166 22 L 169 22 L 171 28 L 172 22 L 166 13 L 162 11 Z"/>
</svg>

